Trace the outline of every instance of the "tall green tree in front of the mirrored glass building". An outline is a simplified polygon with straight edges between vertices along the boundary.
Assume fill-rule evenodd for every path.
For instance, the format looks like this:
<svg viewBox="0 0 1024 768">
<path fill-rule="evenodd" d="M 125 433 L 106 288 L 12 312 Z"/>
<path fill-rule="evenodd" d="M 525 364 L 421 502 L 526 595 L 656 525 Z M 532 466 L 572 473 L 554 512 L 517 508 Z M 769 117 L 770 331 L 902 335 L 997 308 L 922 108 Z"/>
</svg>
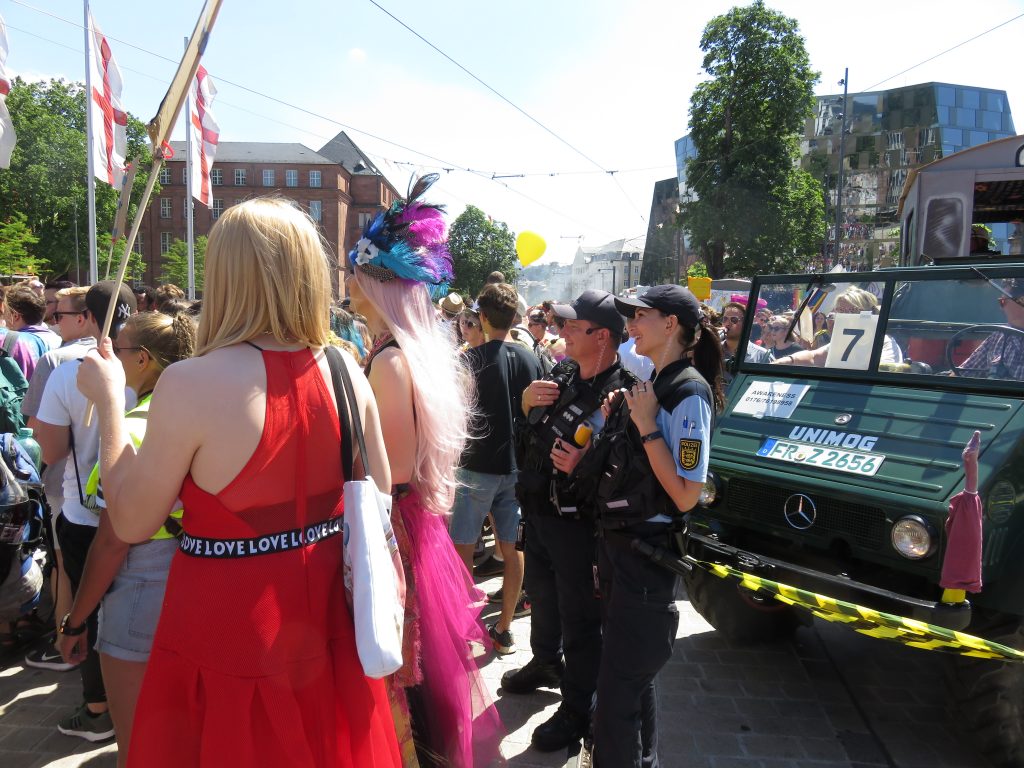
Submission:
<svg viewBox="0 0 1024 768">
<path fill-rule="evenodd" d="M 762 0 L 713 18 L 690 99 L 683 225 L 712 278 L 800 269 L 824 237 L 821 184 L 796 165 L 818 74 L 797 23 Z"/>
</svg>

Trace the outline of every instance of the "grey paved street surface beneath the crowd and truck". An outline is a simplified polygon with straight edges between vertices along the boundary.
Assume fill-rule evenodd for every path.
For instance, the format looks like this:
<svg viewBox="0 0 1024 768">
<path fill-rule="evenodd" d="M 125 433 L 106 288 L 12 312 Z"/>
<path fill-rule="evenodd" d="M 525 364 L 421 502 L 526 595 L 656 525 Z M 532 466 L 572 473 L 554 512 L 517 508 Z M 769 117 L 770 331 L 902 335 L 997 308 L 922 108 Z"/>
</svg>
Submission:
<svg viewBox="0 0 1024 768">
<path fill-rule="evenodd" d="M 482 585 L 497 589 L 500 581 Z M 793 643 L 732 647 L 680 601 L 675 654 L 662 676 L 666 768 L 985 768 L 962 745 L 942 701 L 941 658 L 817 624 Z M 488 613 L 489 615 L 489 613 Z M 529 658 L 529 621 L 514 625 L 520 650 L 484 666 L 490 690 Z M 17 660 L 17 659 L 13 659 Z M 77 702 L 74 673 L 0 663 L 0 766 L 115 765 L 113 745 L 56 732 Z M 562 766 L 567 756 L 529 749 L 534 727 L 559 696 L 499 696 L 510 766 Z"/>
</svg>

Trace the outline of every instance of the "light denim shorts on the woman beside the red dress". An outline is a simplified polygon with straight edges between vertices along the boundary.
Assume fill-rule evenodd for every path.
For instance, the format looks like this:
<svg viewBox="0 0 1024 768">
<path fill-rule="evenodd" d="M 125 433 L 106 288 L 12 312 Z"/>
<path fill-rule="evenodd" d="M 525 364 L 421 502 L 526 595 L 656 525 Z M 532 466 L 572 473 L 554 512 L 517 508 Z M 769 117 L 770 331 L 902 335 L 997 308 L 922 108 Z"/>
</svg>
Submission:
<svg viewBox="0 0 1024 768">
<path fill-rule="evenodd" d="M 128 550 L 99 606 L 96 650 L 125 662 L 150 658 L 177 539 L 158 539 Z"/>
</svg>

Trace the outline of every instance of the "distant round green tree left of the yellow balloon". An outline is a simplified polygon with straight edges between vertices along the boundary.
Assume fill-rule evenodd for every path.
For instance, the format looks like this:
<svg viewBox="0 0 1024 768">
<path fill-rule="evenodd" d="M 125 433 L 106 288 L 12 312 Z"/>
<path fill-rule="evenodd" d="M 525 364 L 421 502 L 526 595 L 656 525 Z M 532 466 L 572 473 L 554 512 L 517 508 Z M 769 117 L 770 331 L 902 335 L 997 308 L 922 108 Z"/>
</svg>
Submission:
<svg viewBox="0 0 1024 768">
<path fill-rule="evenodd" d="M 515 283 L 515 234 L 504 221 L 494 221 L 476 206 L 466 206 L 449 231 L 449 251 L 455 265 L 453 290 L 476 296 L 496 269 Z"/>
</svg>

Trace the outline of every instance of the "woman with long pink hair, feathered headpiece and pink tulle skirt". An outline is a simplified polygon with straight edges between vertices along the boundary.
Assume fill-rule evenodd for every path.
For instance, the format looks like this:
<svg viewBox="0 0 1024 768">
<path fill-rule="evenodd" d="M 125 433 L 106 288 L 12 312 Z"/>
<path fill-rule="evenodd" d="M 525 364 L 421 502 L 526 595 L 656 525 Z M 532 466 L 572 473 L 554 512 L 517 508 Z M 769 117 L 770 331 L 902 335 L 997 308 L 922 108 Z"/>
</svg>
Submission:
<svg viewBox="0 0 1024 768">
<path fill-rule="evenodd" d="M 390 686 L 402 758 L 407 766 L 473 768 L 498 755 L 501 720 L 471 645 L 488 647 L 478 620 L 483 594 L 445 519 L 473 391 L 452 328 L 437 322 L 433 304 L 453 278 L 441 209 L 420 200 L 436 180 L 419 179 L 408 200 L 370 222 L 348 255 L 348 285 L 375 339 L 365 365 L 406 567 L 404 665 Z"/>
</svg>

